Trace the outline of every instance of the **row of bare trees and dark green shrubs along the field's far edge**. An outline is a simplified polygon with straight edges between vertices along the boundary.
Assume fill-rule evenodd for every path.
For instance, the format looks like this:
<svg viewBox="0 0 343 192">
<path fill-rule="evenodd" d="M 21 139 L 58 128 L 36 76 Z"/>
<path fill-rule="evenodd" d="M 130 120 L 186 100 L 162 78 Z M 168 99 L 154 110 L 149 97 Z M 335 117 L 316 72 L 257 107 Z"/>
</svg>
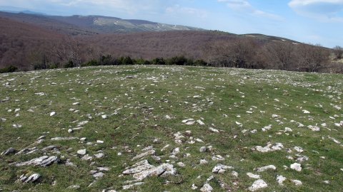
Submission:
<svg viewBox="0 0 343 192">
<path fill-rule="evenodd" d="M 199 58 L 175 55 L 170 58 L 133 58 L 130 55 L 101 53 L 74 38 L 67 38 L 50 49 L 30 55 L 30 68 L 34 70 L 74 68 L 93 65 L 199 65 L 227 68 L 253 68 L 294 70 L 304 72 L 343 73 L 343 48 L 328 49 L 319 44 L 292 41 L 264 41 L 252 37 L 237 37 L 229 41 L 215 41 L 202 48 Z M 15 67 L 0 73 L 13 72 Z"/>
</svg>

